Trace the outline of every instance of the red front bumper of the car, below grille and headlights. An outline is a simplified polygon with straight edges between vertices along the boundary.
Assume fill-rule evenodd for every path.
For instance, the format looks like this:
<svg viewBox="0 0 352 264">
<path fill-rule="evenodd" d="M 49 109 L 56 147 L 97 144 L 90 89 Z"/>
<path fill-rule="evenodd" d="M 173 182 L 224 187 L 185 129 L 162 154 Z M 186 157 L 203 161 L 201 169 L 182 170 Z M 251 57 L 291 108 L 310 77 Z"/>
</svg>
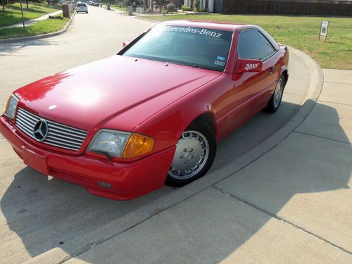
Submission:
<svg viewBox="0 0 352 264">
<path fill-rule="evenodd" d="M 72 156 L 30 144 L 6 119 L 0 117 L 0 132 L 26 165 L 108 199 L 134 199 L 163 187 L 175 153 L 172 146 L 130 163 L 110 162 L 86 154 Z"/>
</svg>

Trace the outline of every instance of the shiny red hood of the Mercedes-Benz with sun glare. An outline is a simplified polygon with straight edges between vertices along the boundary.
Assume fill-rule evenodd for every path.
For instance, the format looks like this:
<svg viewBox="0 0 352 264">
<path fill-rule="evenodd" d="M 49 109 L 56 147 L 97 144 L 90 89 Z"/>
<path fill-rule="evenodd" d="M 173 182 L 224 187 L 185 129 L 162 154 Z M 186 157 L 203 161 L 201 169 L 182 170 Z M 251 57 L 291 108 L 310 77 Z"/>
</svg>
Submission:
<svg viewBox="0 0 352 264">
<path fill-rule="evenodd" d="M 116 55 L 51 75 L 14 94 L 20 99 L 20 107 L 84 130 L 101 128 L 133 109 L 133 118 L 118 118 L 119 124 L 106 127 L 132 130 L 219 75 L 213 70 Z M 56 108 L 49 110 L 49 106 Z"/>
</svg>

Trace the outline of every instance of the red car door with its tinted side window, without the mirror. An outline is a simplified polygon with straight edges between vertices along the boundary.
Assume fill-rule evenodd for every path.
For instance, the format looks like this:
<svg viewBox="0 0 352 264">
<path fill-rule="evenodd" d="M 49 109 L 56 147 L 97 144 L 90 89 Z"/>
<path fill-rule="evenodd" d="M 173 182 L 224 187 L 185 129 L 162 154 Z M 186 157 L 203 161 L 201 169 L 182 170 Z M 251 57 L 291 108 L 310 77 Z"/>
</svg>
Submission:
<svg viewBox="0 0 352 264">
<path fill-rule="evenodd" d="M 258 29 L 239 32 L 237 58 L 261 60 L 263 68 L 260 72 L 244 73 L 235 73 L 234 69 L 233 88 L 226 93 L 226 114 L 219 120 L 224 134 L 246 122 L 269 101 L 278 80 L 279 67 L 275 65 L 279 60 L 275 54 L 277 49 Z"/>
</svg>

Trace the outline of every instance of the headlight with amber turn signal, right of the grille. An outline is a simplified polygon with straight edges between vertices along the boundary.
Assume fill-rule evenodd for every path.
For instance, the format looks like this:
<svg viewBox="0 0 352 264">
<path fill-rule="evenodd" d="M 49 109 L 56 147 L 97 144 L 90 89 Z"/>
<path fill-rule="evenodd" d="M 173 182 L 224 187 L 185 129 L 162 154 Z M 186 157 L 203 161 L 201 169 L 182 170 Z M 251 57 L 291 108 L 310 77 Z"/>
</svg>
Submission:
<svg viewBox="0 0 352 264">
<path fill-rule="evenodd" d="M 134 158 L 153 150 L 154 139 L 141 134 L 101 130 L 92 139 L 89 151 L 108 153 L 119 158 Z"/>
</svg>

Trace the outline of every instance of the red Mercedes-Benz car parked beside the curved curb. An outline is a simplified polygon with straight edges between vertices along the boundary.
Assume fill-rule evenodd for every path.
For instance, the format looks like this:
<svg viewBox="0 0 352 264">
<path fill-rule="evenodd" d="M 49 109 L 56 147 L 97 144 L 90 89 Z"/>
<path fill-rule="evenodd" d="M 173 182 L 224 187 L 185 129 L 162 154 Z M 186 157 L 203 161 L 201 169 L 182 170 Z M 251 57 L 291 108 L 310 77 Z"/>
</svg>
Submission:
<svg viewBox="0 0 352 264">
<path fill-rule="evenodd" d="M 159 23 L 111 58 L 15 90 L 0 132 L 44 175 L 133 199 L 205 175 L 217 142 L 277 111 L 288 62 L 256 25 Z"/>
</svg>

